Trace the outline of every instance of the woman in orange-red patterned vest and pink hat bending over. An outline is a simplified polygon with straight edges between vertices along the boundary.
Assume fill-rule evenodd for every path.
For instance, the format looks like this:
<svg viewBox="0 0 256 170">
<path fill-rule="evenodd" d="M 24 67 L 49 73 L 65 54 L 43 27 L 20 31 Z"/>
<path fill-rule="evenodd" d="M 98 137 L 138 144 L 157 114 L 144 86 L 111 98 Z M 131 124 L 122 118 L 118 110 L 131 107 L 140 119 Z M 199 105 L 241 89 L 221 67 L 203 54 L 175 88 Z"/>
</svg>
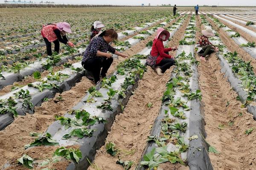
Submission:
<svg viewBox="0 0 256 170">
<path fill-rule="evenodd" d="M 72 42 L 69 42 L 66 37 L 67 33 L 72 33 L 69 23 L 57 23 L 57 24 L 47 24 L 43 26 L 41 30 L 41 35 L 46 44 L 47 55 L 52 56 L 52 44 L 54 43 L 54 51 L 60 51 L 60 42 L 74 47 Z"/>
</svg>

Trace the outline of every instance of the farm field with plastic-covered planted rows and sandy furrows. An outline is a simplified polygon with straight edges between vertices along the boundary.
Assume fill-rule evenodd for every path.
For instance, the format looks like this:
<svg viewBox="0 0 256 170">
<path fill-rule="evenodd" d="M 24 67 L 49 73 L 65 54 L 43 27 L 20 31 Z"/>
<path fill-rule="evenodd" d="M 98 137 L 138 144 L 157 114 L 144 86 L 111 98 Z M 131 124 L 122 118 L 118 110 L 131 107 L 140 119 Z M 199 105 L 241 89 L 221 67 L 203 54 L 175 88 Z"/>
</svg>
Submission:
<svg viewBox="0 0 256 170">
<path fill-rule="evenodd" d="M 1 170 L 255 170 L 256 9 L 3 8 L 0 11 Z M 81 65 L 90 27 L 119 38 L 107 77 Z M 75 47 L 47 56 L 46 23 L 68 22 Z M 158 28 L 175 65 L 146 65 Z M 211 27 L 219 51 L 196 53 Z"/>
</svg>

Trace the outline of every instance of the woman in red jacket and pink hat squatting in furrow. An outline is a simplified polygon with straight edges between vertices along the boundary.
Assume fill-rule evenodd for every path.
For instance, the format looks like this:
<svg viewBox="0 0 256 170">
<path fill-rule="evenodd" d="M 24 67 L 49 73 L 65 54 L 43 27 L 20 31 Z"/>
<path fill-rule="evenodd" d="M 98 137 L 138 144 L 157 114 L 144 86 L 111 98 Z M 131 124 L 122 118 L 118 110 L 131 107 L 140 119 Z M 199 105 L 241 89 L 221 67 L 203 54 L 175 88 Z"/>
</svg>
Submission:
<svg viewBox="0 0 256 170">
<path fill-rule="evenodd" d="M 148 65 L 150 65 L 153 69 L 156 68 L 159 76 L 163 75 L 168 68 L 175 64 L 174 57 L 169 55 L 168 52 L 172 50 L 175 51 L 177 48 L 164 48 L 163 46 L 163 41 L 168 40 L 169 37 L 169 31 L 163 28 L 158 28 L 157 36 L 153 40 L 151 53 L 147 58 Z"/>
</svg>

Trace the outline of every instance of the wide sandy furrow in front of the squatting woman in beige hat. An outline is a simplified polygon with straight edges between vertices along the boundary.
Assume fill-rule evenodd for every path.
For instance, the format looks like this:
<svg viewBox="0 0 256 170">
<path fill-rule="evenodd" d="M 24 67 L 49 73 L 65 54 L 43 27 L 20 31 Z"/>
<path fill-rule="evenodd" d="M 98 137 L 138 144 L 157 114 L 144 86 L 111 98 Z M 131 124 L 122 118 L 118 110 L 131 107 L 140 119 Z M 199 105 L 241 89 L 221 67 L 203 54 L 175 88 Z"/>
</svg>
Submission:
<svg viewBox="0 0 256 170">
<path fill-rule="evenodd" d="M 209 62 L 201 62 L 198 66 L 206 140 L 220 152 L 209 153 L 212 165 L 215 170 L 255 170 L 253 161 L 256 162 L 256 151 L 252 148 L 256 143 L 256 133 L 253 131 L 247 136 L 244 131 L 255 127 L 256 122 L 246 109 L 241 108 L 241 102 L 236 100 L 236 92 L 220 70 L 220 62 L 215 54 L 211 54 Z M 218 128 L 220 125 L 222 130 Z"/>
</svg>

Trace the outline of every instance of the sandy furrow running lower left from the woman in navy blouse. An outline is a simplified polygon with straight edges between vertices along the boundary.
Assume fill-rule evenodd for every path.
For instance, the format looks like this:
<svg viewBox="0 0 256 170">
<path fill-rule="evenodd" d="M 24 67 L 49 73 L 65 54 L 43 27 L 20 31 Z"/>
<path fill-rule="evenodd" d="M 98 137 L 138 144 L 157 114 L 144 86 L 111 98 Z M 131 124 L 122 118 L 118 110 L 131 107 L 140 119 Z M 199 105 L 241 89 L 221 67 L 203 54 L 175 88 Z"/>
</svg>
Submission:
<svg viewBox="0 0 256 170">
<path fill-rule="evenodd" d="M 40 107 L 35 108 L 33 115 L 18 116 L 5 130 L 0 131 L 0 167 L 7 160 L 22 156 L 24 145 L 31 143 L 34 139 L 29 136 L 29 132 L 44 132 L 47 127 L 55 121 L 55 115 L 64 115 L 73 108 L 84 96 L 85 92 L 93 86 L 93 83 L 83 77 L 76 86 L 61 94 L 63 101 L 56 99 L 60 94 L 56 94 L 54 99 L 49 99 Z"/>
</svg>

